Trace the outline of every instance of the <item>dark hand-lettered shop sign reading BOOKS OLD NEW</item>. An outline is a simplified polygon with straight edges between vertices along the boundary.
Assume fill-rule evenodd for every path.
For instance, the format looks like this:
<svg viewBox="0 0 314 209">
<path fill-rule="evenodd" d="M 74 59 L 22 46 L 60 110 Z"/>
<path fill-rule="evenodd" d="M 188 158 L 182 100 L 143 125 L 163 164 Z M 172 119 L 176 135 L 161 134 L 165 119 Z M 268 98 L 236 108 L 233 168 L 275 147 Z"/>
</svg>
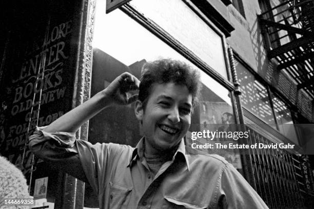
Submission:
<svg viewBox="0 0 314 209">
<path fill-rule="evenodd" d="M 49 25 L 37 24 L 41 32 L 27 33 L 25 37 L 31 37 L 28 40 L 16 32 L 12 40 L 18 41 L 10 43 L 3 64 L 0 155 L 21 169 L 27 179 L 36 169 L 28 137 L 36 126 L 46 126 L 61 117 L 71 104 L 74 73 L 68 69 L 72 66 L 72 21 L 62 16 L 60 19 Z M 19 56 L 12 62 L 16 54 Z"/>
</svg>

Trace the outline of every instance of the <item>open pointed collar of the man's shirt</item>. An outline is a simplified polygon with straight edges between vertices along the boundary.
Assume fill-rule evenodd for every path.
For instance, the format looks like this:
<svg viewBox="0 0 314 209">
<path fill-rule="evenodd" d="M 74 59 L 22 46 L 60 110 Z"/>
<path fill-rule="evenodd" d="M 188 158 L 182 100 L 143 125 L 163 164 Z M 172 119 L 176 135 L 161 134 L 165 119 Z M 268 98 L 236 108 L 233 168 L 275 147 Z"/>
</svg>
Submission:
<svg viewBox="0 0 314 209">
<path fill-rule="evenodd" d="M 143 157 L 144 157 L 144 140 L 145 140 L 144 137 L 142 137 L 142 139 L 139 141 L 139 143 L 134 148 L 131 159 L 130 159 L 130 163 L 128 164 L 127 167 L 132 166 L 133 162 L 135 162 L 136 159 L 138 159 L 138 158 L 140 160 L 143 159 Z M 179 143 L 178 149 L 176 149 L 175 154 L 173 155 L 172 161 L 174 161 L 174 159 L 178 157 L 177 156 L 178 153 L 180 153 L 179 155 L 182 155 L 184 157 L 187 169 L 190 170 L 189 160 L 188 160 L 187 155 L 185 154 L 185 144 L 184 144 L 183 138 L 181 139 L 181 141 Z"/>
</svg>

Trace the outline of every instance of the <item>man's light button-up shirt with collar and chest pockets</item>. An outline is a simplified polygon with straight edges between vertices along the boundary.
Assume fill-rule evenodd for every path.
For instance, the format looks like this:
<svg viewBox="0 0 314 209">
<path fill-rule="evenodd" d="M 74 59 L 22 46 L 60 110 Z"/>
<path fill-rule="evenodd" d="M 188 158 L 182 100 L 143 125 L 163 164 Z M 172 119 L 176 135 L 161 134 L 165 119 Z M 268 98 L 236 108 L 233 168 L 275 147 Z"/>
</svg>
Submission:
<svg viewBox="0 0 314 209">
<path fill-rule="evenodd" d="M 100 208 L 268 208 L 224 158 L 179 144 L 173 158 L 153 176 L 144 157 L 144 138 L 134 148 L 91 144 L 74 133 L 38 129 L 30 149 L 50 161 L 71 161 L 71 174 L 85 173 Z"/>
</svg>

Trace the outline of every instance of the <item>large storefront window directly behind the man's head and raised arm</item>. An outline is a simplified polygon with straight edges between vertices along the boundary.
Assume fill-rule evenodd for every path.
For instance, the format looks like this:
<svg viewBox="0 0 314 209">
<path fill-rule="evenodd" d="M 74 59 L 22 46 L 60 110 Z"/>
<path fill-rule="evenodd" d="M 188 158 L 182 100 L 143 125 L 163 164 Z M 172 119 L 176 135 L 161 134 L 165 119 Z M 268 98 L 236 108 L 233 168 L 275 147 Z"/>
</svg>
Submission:
<svg viewBox="0 0 314 209">
<path fill-rule="evenodd" d="M 125 71 L 140 78 L 142 66 L 148 61 L 171 58 L 197 68 L 121 10 L 104 14 L 103 1 L 97 4 L 99 5 L 96 5 L 93 39 L 91 96 L 104 89 Z M 211 50 L 216 52 L 214 49 Z M 195 108 L 191 123 L 217 124 L 217 126 L 234 123 L 230 92 L 205 72 L 201 72 L 201 80 L 203 89 L 200 105 Z M 200 125 L 198 128 L 200 130 Z M 141 137 L 140 124 L 134 114 L 134 104 L 106 108 L 89 122 L 88 140 L 91 143 L 113 142 L 135 146 Z M 188 136 L 185 140 L 189 145 Z M 223 153 L 216 154 L 223 155 Z M 227 157 L 230 161 L 237 162 L 234 164 L 236 167 L 241 168 L 239 155 L 228 154 Z M 86 206 L 93 206 L 90 205 L 93 200 L 92 195 L 86 198 L 85 202 L 88 202 Z"/>
</svg>

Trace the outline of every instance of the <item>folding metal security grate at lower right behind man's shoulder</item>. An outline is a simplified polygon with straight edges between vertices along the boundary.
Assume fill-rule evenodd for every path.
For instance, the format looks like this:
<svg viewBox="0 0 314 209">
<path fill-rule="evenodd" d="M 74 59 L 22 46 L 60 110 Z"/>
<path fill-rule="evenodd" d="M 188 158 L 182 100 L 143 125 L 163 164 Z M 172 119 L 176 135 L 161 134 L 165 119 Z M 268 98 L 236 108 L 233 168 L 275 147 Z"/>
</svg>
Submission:
<svg viewBox="0 0 314 209">
<path fill-rule="evenodd" d="M 247 127 L 249 144 L 271 141 Z M 251 149 L 253 175 L 257 192 L 269 208 L 306 208 L 298 176 L 302 176 L 295 155 L 279 149 Z"/>
</svg>

